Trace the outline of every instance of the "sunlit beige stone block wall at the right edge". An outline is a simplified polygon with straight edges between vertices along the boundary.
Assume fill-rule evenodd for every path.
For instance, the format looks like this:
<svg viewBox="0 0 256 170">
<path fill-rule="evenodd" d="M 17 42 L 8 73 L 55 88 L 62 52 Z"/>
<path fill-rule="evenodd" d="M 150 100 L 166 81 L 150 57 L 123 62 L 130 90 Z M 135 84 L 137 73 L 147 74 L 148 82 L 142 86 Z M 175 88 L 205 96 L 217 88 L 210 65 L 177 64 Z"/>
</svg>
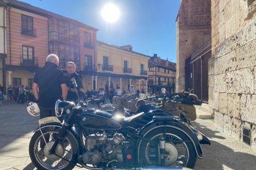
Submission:
<svg viewBox="0 0 256 170">
<path fill-rule="evenodd" d="M 256 150 L 256 1 L 212 0 L 213 100 L 216 127 Z"/>
</svg>

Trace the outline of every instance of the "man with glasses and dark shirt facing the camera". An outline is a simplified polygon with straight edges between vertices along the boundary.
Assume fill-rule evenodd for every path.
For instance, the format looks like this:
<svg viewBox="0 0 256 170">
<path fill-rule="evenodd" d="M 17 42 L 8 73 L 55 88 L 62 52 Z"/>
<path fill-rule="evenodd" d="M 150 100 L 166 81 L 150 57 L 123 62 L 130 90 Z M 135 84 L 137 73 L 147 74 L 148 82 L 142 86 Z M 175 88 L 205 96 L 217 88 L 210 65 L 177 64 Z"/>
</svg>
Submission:
<svg viewBox="0 0 256 170">
<path fill-rule="evenodd" d="M 82 94 L 83 94 L 82 78 L 80 75 L 77 74 L 77 72 L 75 72 L 75 70 L 77 70 L 77 68 L 76 68 L 74 62 L 67 62 L 66 70 L 68 73 L 68 75 L 65 77 L 67 88 L 68 88 L 67 100 L 74 102 L 75 100 L 79 100 L 79 99 L 77 99 L 77 94 L 79 94 L 79 96 L 82 96 Z M 72 82 L 73 78 L 77 82 L 77 87 L 75 87 Z M 77 94 L 75 92 L 75 89 L 77 91 Z"/>
</svg>

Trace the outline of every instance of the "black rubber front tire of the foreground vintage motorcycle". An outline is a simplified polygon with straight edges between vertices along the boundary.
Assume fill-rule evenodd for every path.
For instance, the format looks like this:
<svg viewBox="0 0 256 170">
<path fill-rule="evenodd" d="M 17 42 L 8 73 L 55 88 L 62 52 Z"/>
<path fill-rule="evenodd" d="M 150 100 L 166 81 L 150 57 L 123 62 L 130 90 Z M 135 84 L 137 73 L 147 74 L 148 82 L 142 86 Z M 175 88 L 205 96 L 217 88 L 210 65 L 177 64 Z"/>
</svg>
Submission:
<svg viewBox="0 0 256 170">
<path fill-rule="evenodd" d="M 59 128 L 58 129 L 49 129 L 49 130 L 42 129 L 43 133 L 45 133 L 47 131 L 59 132 Z M 49 170 L 49 169 L 46 169 L 43 166 L 41 166 L 41 164 L 38 163 L 38 161 L 36 160 L 35 155 L 34 155 L 35 142 L 40 136 L 41 136 L 41 132 L 37 131 L 37 132 L 35 132 L 35 134 L 32 136 L 32 138 L 30 140 L 30 144 L 29 144 L 30 159 L 32 160 L 32 163 L 35 165 L 36 168 Z M 74 163 L 69 163 L 69 165 L 66 166 L 66 168 L 63 168 L 63 170 L 73 169 L 75 167 L 75 164 L 77 163 L 77 158 L 78 158 L 79 148 L 77 147 L 77 145 L 75 145 L 75 144 L 77 144 L 77 140 L 70 133 L 67 134 L 67 139 L 69 139 L 71 145 L 74 144 L 74 145 L 72 145 L 73 155 L 72 155 L 72 160 L 71 160 Z M 77 152 L 74 153 L 74 151 L 77 151 Z"/>
</svg>

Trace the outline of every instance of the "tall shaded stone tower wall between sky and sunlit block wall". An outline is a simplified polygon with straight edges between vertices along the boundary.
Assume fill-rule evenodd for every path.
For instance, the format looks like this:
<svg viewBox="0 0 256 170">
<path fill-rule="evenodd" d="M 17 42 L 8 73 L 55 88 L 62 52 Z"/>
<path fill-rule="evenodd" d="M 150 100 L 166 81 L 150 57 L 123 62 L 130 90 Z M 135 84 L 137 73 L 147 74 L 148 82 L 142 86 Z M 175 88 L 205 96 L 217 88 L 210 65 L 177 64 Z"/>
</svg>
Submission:
<svg viewBox="0 0 256 170">
<path fill-rule="evenodd" d="M 211 39 L 211 1 L 210 0 L 182 0 L 176 18 L 176 44 L 177 44 L 177 80 L 176 91 L 188 90 L 187 84 L 198 81 L 200 74 L 194 74 L 192 68 L 201 65 L 201 59 L 191 56 Z M 189 59 L 190 58 L 190 59 Z M 197 59 L 197 60 L 195 60 Z M 186 65 L 186 67 L 185 67 Z M 193 66 L 194 65 L 194 66 Z M 185 69 L 186 68 L 186 69 Z M 201 70 L 197 70 L 198 73 Z M 207 68 L 206 70 L 207 71 Z M 205 72 L 202 71 L 202 72 Z M 189 76 L 186 77 L 186 74 Z M 196 75 L 194 77 L 194 75 Z M 201 84 L 200 82 L 197 84 Z M 195 86 L 194 86 L 195 87 Z M 192 87 L 190 86 L 190 89 Z M 194 92 L 198 94 L 200 90 Z"/>
</svg>

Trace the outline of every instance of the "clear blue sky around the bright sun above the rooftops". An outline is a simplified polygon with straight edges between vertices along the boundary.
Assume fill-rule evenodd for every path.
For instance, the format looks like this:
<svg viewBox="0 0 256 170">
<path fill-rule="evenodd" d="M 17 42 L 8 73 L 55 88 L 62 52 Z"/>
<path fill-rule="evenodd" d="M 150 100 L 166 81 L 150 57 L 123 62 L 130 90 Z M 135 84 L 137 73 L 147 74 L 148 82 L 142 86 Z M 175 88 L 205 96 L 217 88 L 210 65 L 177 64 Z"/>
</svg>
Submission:
<svg viewBox="0 0 256 170">
<path fill-rule="evenodd" d="M 176 17 L 180 0 L 20 0 L 98 29 L 97 39 L 176 62 Z M 114 23 L 101 16 L 111 2 L 120 11 Z"/>
</svg>

